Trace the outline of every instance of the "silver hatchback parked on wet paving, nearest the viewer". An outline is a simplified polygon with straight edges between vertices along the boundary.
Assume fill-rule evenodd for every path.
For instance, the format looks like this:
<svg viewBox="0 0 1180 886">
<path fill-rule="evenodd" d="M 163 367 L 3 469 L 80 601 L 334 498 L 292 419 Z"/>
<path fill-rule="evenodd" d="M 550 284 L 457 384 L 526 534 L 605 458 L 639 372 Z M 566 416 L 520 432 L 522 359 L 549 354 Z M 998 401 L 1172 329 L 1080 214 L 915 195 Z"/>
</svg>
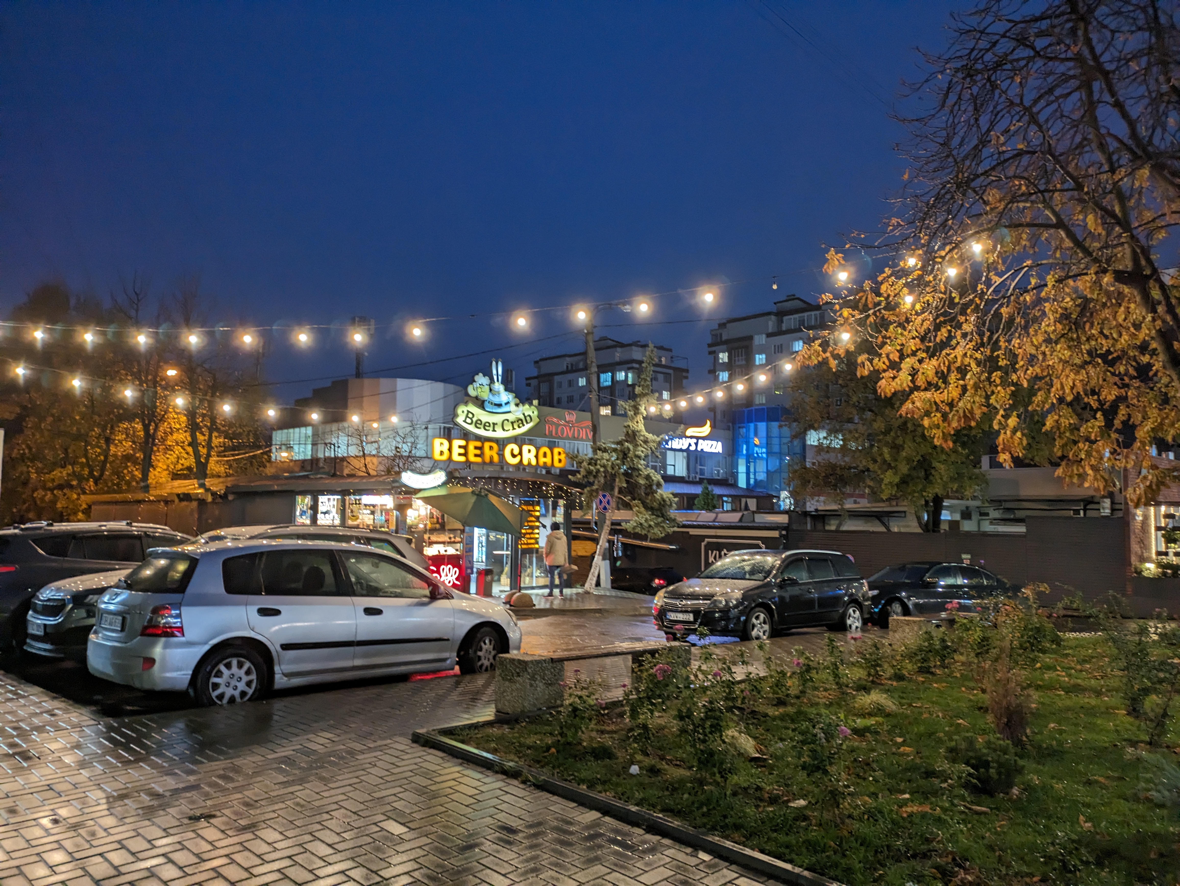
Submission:
<svg viewBox="0 0 1180 886">
<path fill-rule="evenodd" d="M 386 551 L 274 539 L 155 551 L 98 600 L 90 672 L 232 704 L 273 688 L 496 667 L 506 608 L 452 593 Z"/>
</svg>

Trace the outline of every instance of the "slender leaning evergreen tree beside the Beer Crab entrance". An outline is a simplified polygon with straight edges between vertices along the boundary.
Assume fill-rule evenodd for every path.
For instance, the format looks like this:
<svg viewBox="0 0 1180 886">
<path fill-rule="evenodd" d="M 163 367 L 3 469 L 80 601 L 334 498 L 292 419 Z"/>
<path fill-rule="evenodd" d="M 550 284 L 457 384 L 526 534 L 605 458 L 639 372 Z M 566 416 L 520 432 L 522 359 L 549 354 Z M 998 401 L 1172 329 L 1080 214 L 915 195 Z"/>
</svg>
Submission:
<svg viewBox="0 0 1180 886">
<path fill-rule="evenodd" d="M 676 498 L 663 491 L 663 479 L 648 466 L 648 458 L 660 449 L 657 434 L 648 433 L 643 424 L 649 407 L 656 402 L 651 394 L 651 367 L 656 362 L 656 349 L 649 342 L 643 356 L 635 399 L 627 406 L 627 422 L 623 434 L 611 442 L 599 441 L 594 454 L 579 462 L 576 479 L 584 484 L 583 500 L 586 510 L 595 507 L 598 494 L 609 492 L 611 512 L 603 517 L 598 531 L 598 550 L 590 564 L 585 588 L 594 588 L 598 580 L 598 564 L 607 551 L 610 538 L 612 512 L 622 503 L 635 516 L 623 524 L 623 529 L 648 538 L 662 538 L 680 525 L 671 508 Z"/>
</svg>

